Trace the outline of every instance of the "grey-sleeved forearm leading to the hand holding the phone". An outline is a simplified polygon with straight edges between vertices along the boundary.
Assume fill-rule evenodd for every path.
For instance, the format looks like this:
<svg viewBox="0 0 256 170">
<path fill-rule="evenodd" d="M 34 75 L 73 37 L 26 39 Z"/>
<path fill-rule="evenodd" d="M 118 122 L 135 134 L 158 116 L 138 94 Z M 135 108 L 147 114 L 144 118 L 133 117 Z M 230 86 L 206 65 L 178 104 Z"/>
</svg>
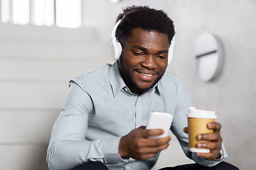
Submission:
<svg viewBox="0 0 256 170">
<path fill-rule="evenodd" d="M 124 162 L 118 154 L 119 137 L 108 140 L 60 140 L 48 148 L 50 170 L 72 169 L 82 162 L 97 161 L 104 164 Z"/>
</svg>

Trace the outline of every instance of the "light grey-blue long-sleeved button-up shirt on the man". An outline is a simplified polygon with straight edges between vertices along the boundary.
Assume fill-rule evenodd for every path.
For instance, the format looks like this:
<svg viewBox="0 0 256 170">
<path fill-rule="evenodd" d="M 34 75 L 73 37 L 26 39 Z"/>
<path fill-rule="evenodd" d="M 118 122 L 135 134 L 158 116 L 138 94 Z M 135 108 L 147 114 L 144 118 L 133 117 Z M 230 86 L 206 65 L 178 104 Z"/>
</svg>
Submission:
<svg viewBox="0 0 256 170">
<path fill-rule="evenodd" d="M 98 161 L 109 169 L 151 169 L 159 156 L 138 161 L 122 159 L 119 140 L 134 128 L 146 125 L 151 111 L 174 115 L 171 131 L 187 157 L 213 166 L 188 151 L 186 113 L 191 106 L 188 91 L 179 77 L 165 72 L 145 94 L 132 94 L 119 74 L 117 62 L 106 64 L 70 80 L 65 106 L 53 126 L 47 152 L 50 170 L 73 169 L 87 161 Z M 224 150 L 224 155 L 225 150 Z"/>
</svg>

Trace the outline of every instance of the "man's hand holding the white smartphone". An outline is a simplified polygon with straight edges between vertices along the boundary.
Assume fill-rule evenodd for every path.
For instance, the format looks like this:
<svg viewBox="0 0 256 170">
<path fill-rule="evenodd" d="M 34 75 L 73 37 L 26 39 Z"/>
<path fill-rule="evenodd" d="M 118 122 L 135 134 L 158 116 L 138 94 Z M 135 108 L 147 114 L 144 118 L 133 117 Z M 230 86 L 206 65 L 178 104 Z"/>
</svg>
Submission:
<svg viewBox="0 0 256 170">
<path fill-rule="evenodd" d="M 132 130 L 123 136 L 119 142 L 120 156 L 122 158 L 132 157 L 138 160 L 154 157 L 158 152 L 169 146 L 171 137 L 167 136 L 154 140 L 148 139 L 148 137 L 163 133 L 164 130 L 161 129 L 146 130 L 145 126 Z"/>
</svg>

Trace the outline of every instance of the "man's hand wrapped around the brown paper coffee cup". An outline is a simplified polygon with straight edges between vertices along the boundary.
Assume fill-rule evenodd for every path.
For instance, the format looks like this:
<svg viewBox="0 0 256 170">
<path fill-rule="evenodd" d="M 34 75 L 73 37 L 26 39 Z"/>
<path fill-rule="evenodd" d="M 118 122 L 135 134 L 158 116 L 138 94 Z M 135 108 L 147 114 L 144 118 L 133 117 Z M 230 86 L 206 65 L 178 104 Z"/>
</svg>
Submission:
<svg viewBox="0 0 256 170">
<path fill-rule="evenodd" d="M 198 148 L 208 148 L 210 153 L 197 153 L 198 157 L 204 157 L 208 160 L 215 160 L 220 155 L 222 137 L 220 136 L 220 123 L 212 122 L 207 124 L 208 129 L 213 130 L 213 133 L 199 134 L 197 136 L 198 141 L 208 140 L 207 143 L 198 142 Z M 183 129 L 184 132 L 188 133 L 188 128 Z"/>
</svg>

